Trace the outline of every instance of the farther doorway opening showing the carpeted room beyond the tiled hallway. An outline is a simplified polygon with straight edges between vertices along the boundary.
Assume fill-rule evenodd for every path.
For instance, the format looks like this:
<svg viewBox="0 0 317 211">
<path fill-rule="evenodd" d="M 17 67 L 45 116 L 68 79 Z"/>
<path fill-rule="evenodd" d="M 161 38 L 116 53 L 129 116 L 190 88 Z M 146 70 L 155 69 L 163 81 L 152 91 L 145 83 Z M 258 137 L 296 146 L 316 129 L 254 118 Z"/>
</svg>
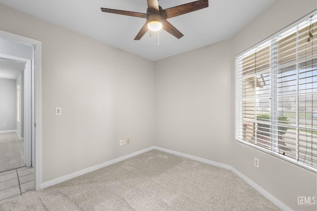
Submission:
<svg viewBox="0 0 317 211">
<path fill-rule="evenodd" d="M 28 62 L 28 65 L 30 62 Z M 26 63 L 0 57 L 0 172 L 20 168 L 26 162 L 26 155 L 32 152 L 25 145 L 30 143 L 25 132 L 24 73 Z M 29 69 L 29 68 L 27 68 Z M 27 106 L 30 109 L 30 106 Z"/>
</svg>

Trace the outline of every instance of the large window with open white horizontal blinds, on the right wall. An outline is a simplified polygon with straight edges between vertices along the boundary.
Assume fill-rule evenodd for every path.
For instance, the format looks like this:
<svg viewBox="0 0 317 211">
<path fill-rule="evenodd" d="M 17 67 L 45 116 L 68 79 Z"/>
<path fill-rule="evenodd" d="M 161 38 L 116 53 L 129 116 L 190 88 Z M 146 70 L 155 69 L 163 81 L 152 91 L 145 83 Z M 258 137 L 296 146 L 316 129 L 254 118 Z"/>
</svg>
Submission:
<svg viewBox="0 0 317 211">
<path fill-rule="evenodd" d="M 236 57 L 236 140 L 315 172 L 316 32 L 310 16 Z"/>
</svg>

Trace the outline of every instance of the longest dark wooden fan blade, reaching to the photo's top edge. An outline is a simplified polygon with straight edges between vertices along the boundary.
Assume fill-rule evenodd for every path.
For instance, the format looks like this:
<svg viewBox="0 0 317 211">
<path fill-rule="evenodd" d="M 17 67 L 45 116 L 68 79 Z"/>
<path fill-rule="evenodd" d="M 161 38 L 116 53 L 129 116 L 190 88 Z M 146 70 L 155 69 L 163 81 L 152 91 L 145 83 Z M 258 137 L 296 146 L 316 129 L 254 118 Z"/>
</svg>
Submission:
<svg viewBox="0 0 317 211">
<path fill-rule="evenodd" d="M 178 15 L 193 12 L 199 9 L 208 7 L 208 0 L 197 0 L 190 3 L 185 3 L 179 6 L 170 7 L 161 10 L 161 14 L 166 18 L 176 17 Z"/>
</svg>

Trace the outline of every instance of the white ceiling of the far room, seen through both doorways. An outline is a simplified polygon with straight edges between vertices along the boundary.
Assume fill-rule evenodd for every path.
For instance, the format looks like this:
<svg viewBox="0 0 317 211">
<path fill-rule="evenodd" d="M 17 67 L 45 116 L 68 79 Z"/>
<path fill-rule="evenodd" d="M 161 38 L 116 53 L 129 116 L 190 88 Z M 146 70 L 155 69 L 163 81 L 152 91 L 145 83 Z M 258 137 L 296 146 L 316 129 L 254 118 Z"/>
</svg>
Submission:
<svg viewBox="0 0 317 211">
<path fill-rule="evenodd" d="M 0 78 L 15 80 L 24 68 L 24 62 L 0 57 Z"/>
</svg>

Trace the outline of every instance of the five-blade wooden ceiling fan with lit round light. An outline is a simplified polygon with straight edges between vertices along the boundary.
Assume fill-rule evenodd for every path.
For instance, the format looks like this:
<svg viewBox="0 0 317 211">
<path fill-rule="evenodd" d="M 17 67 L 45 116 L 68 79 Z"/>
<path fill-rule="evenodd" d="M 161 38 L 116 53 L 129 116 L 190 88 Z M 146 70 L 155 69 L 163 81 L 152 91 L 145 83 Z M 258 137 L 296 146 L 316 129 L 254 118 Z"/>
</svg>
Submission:
<svg viewBox="0 0 317 211">
<path fill-rule="evenodd" d="M 146 18 L 146 23 L 141 28 L 140 32 L 137 34 L 134 40 L 140 40 L 148 30 L 159 31 L 160 29 L 164 29 L 166 32 L 170 33 L 171 35 L 179 39 L 184 35 L 180 31 L 178 31 L 172 24 L 170 24 L 166 19 L 208 7 L 208 0 L 197 0 L 190 3 L 170 7 L 167 9 L 162 9 L 162 7 L 159 6 L 159 0 L 147 1 L 147 13 L 130 12 L 107 8 L 101 8 L 101 10 L 103 12 L 108 13 Z"/>
</svg>

